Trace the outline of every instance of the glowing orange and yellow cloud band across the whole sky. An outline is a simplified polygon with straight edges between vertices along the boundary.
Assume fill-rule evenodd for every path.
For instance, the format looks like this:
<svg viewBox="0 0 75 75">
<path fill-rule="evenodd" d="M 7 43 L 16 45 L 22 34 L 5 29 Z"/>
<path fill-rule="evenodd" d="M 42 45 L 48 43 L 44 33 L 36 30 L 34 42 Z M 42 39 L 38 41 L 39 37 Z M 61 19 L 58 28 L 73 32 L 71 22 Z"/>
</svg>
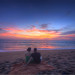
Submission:
<svg viewBox="0 0 75 75">
<path fill-rule="evenodd" d="M 61 32 L 54 30 L 40 30 L 35 26 L 31 29 L 19 29 L 19 28 L 6 28 L 6 33 L 0 33 L 0 37 L 3 38 L 22 38 L 22 39 L 49 39 L 49 40 L 62 40 L 71 39 L 75 37 L 74 34 L 61 35 Z"/>
</svg>

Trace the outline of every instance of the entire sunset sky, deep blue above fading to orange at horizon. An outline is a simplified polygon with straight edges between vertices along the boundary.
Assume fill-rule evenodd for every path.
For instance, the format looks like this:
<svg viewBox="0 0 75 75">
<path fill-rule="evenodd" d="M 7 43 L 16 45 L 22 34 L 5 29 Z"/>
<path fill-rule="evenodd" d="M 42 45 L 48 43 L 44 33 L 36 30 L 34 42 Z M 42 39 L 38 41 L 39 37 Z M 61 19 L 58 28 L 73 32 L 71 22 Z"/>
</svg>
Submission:
<svg viewBox="0 0 75 75">
<path fill-rule="evenodd" d="M 0 39 L 75 40 L 75 0 L 0 0 Z"/>
</svg>

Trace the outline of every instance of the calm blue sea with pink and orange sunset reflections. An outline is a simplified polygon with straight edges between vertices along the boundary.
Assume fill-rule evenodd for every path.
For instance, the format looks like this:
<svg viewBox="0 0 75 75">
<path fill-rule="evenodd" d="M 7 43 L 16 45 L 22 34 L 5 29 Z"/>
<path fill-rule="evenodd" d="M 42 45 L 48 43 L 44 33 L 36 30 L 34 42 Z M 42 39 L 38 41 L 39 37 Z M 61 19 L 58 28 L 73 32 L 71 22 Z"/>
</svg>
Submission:
<svg viewBox="0 0 75 75">
<path fill-rule="evenodd" d="M 75 41 L 0 40 L 0 51 L 26 50 L 28 47 L 39 50 L 75 49 Z"/>
</svg>

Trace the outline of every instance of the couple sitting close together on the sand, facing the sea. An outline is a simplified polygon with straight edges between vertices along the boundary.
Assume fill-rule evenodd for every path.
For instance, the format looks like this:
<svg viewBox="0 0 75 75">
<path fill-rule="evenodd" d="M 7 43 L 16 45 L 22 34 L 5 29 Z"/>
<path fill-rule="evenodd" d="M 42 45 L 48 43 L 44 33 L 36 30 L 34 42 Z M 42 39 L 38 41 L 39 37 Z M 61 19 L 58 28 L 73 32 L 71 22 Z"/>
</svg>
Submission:
<svg viewBox="0 0 75 75">
<path fill-rule="evenodd" d="M 26 56 L 26 63 L 36 63 L 39 64 L 41 62 L 41 54 L 37 52 L 37 48 L 34 48 L 34 52 L 31 53 L 31 48 L 29 47 L 27 49 L 27 52 L 25 53 Z"/>
</svg>

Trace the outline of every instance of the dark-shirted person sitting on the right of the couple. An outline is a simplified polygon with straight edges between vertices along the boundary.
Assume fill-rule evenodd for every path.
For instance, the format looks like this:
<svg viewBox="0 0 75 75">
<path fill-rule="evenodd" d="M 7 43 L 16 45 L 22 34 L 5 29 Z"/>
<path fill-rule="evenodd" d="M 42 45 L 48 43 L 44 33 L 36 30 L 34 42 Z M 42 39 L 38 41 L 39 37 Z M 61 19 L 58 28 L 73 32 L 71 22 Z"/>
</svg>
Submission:
<svg viewBox="0 0 75 75">
<path fill-rule="evenodd" d="M 39 52 L 37 52 L 37 48 L 34 48 L 34 53 L 31 54 L 31 57 L 34 60 L 34 63 L 39 64 L 41 62 L 41 54 Z"/>
</svg>

